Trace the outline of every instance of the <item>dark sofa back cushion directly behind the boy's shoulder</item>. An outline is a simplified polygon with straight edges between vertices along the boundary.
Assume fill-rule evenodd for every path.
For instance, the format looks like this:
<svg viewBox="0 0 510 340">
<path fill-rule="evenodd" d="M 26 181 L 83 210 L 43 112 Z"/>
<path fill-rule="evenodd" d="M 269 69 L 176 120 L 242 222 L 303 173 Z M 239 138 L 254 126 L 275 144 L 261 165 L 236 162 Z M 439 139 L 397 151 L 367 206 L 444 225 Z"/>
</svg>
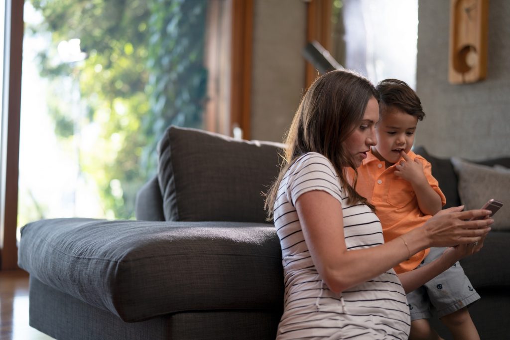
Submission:
<svg viewBox="0 0 510 340">
<path fill-rule="evenodd" d="M 461 205 L 461 199 L 457 191 L 457 176 L 450 159 L 432 156 L 424 147 L 416 147 L 413 151 L 430 162 L 432 176 L 438 180 L 439 187 L 446 197 L 446 204 L 443 209 Z"/>
</svg>

